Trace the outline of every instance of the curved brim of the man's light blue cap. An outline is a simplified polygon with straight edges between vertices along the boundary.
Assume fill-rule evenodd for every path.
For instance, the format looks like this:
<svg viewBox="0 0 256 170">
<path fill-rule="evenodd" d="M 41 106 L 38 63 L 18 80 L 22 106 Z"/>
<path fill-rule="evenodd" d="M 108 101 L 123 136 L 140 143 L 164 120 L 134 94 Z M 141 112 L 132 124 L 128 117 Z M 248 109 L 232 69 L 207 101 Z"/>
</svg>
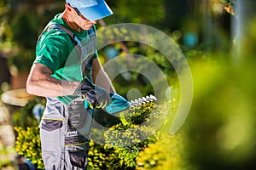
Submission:
<svg viewBox="0 0 256 170">
<path fill-rule="evenodd" d="M 98 3 L 96 6 L 78 9 L 87 20 L 100 20 L 113 14 L 112 10 L 108 7 L 108 4 L 104 1 L 102 1 L 102 3 Z"/>
</svg>

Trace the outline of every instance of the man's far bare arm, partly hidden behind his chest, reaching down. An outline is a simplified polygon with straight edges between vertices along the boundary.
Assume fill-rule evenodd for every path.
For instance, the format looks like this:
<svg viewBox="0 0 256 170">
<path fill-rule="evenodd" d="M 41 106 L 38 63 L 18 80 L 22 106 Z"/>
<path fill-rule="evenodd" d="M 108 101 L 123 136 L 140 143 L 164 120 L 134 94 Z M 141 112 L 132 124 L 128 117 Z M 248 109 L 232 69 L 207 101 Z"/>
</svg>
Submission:
<svg viewBox="0 0 256 170">
<path fill-rule="evenodd" d="M 110 82 L 107 73 L 103 70 L 98 58 L 94 59 L 92 71 L 93 82 L 96 83 L 97 86 L 105 88 L 107 92 L 115 93 L 113 85 Z"/>
</svg>

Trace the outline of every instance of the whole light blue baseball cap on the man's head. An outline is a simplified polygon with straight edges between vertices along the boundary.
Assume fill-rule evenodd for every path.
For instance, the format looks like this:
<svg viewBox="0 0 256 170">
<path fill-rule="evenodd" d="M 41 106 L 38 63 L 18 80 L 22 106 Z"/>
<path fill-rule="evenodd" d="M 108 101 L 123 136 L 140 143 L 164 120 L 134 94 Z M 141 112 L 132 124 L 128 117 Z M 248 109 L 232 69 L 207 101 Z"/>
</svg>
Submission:
<svg viewBox="0 0 256 170">
<path fill-rule="evenodd" d="M 66 3 L 79 9 L 79 12 L 88 20 L 100 20 L 113 14 L 104 0 L 66 0 Z"/>
</svg>

